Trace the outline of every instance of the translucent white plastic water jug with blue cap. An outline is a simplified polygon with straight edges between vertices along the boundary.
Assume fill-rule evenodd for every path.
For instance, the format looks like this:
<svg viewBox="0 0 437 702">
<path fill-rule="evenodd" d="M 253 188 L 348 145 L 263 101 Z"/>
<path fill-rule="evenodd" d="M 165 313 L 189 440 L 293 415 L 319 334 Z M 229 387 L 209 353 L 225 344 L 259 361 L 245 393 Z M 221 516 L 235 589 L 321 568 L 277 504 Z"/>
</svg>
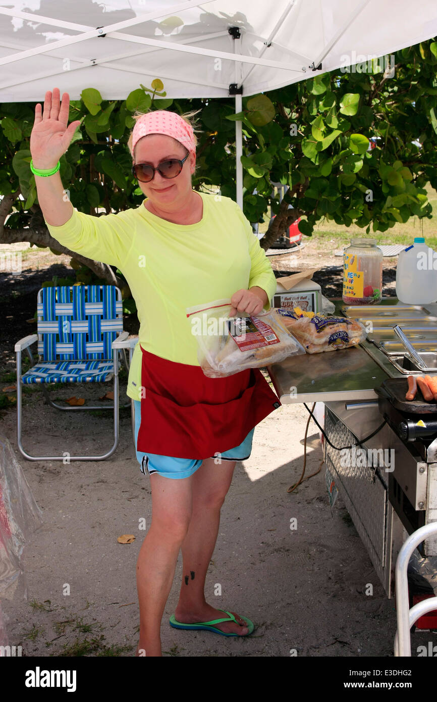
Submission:
<svg viewBox="0 0 437 702">
<path fill-rule="evenodd" d="M 423 237 L 401 251 L 396 267 L 396 297 L 405 305 L 426 305 L 437 300 L 437 253 Z"/>
</svg>

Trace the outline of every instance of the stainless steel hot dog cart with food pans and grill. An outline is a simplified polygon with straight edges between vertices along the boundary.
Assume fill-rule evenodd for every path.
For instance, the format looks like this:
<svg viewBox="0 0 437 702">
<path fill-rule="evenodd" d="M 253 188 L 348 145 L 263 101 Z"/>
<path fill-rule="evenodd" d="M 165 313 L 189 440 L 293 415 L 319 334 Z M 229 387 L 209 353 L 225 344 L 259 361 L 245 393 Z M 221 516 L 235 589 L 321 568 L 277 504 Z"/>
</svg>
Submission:
<svg viewBox="0 0 437 702">
<path fill-rule="evenodd" d="M 332 302 L 336 314 L 360 319 L 341 299 Z M 268 370 L 283 404 L 324 404 L 324 432 L 337 447 L 323 440 L 326 468 L 386 595 L 393 597 L 396 557 L 405 535 L 437 521 L 437 404 L 422 402 L 418 412 L 405 412 L 391 395 L 393 381 L 387 380 L 398 378 L 394 385 L 405 399 L 409 374 L 437 375 L 437 303 L 406 310 L 396 298 L 383 298 L 364 314 L 368 334 L 359 346 L 290 357 Z M 396 324 L 431 371 L 420 371 L 409 359 L 394 334 Z M 377 465 L 344 461 L 342 447 L 377 456 Z M 437 556 L 436 537 L 424 541 L 420 555 Z"/>
</svg>

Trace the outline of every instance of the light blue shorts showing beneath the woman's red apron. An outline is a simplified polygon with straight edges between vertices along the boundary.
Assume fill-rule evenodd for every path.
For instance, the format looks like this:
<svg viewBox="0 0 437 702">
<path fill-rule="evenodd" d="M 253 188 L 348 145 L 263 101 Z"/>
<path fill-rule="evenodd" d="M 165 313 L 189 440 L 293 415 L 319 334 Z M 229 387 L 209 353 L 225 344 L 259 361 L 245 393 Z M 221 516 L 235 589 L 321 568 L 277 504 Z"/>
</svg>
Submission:
<svg viewBox="0 0 437 702">
<path fill-rule="evenodd" d="M 141 403 L 140 400 L 134 400 L 135 405 L 135 446 L 137 445 L 138 430 L 141 422 Z M 217 463 L 220 465 L 222 461 L 244 461 L 249 458 L 252 451 L 253 432 L 255 427 L 250 430 L 246 439 L 235 449 L 229 449 L 220 454 L 220 456 L 211 456 L 217 458 Z M 146 475 L 159 473 L 166 478 L 187 478 L 193 475 L 194 472 L 202 465 L 204 458 L 175 458 L 174 456 L 160 456 L 159 453 L 143 453 L 136 451 L 137 461 L 140 463 L 141 472 Z"/>
</svg>

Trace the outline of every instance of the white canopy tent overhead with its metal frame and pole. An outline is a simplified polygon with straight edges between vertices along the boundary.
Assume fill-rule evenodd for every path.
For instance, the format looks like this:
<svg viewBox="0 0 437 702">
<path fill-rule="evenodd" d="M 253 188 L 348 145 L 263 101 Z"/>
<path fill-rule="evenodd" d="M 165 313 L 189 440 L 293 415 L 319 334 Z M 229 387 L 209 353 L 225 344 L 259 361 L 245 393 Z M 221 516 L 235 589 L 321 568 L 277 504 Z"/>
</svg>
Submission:
<svg viewBox="0 0 437 702">
<path fill-rule="evenodd" d="M 242 95 L 436 34 L 436 0 L 415 8 L 410 0 L 8 0 L 0 2 L 0 101 L 42 103 L 53 87 L 72 100 L 90 87 L 124 100 L 160 78 L 168 98 L 234 95 L 241 112 Z M 240 206 L 241 154 L 237 121 Z"/>
</svg>

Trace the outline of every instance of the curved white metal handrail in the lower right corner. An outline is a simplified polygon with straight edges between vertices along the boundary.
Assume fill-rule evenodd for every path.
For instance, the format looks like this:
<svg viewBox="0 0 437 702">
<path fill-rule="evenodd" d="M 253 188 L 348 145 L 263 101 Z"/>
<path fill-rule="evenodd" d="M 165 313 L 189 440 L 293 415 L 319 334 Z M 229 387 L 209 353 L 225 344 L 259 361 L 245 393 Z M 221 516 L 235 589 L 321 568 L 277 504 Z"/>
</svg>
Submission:
<svg viewBox="0 0 437 702">
<path fill-rule="evenodd" d="M 394 655 L 411 656 L 410 628 L 417 619 L 433 609 L 437 609 L 437 597 L 430 597 L 418 602 L 409 609 L 408 600 L 408 563 L 412 552 L 428 536 L 437 535 L 437 522 L 425 524 L 414 531 L 403 543 L 396 560 L 396 618 L 398 628 L 394 637 Z"/>
</svg>

